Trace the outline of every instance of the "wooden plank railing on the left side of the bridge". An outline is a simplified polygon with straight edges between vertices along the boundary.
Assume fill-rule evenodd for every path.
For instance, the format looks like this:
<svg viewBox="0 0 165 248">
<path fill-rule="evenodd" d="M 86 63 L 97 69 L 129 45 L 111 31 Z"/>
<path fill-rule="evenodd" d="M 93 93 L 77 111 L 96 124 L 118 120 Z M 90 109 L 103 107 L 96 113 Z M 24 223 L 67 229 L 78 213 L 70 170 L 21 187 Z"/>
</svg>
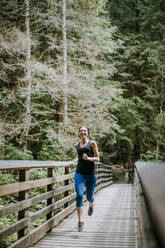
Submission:
<svg viewBox="0 0 165 248">
<path fill-rule="evenodd" d="M 10 214 L 17 214 L 18 216 L 15 223 L 0 230 L 0 240 L 17 233 L 17 240 L 9 247 L 29 247 L 75 210 L 76 193 L 73 182 L 75 169 L 69 169 L 72 163 L 0 161 L 0 171 L 16 173 L 19 177 L 16 183 L 0 186 L 0 197 L 18 194 L 16 203 L 0 208 L 0 218 Z M 29 174 L 34 168 L 46 169 L 47 177 L 30 180 Z M 95 191 L 112 183 L 112 169 L 110 166 L 96 163 L 96 174 L 97 185 Z M 42 192 L 34 197 L 29 197 L 29 191 L 36 188 L 39 188 Z M 29 214 L 31 207 L 43 202 L 45 203 L 43 208 Z M 41 218 L 44 221 L 43 223 L 36 228 L 29 229 L 29 226 Z"/>
</svg>

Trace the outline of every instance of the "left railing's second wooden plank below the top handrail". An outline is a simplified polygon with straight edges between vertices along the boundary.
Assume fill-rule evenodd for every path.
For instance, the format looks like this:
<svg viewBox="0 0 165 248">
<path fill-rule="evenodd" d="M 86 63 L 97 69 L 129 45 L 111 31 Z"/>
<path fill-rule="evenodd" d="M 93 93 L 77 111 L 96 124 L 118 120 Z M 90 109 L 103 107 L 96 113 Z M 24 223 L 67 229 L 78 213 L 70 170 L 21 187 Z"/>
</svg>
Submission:
<svg viewBox="0 0 165 248">
<path fill-rule="evenodd" d="M 54 189 L 50 192 L 43 193 L 41 195 L 35 196 L 33 198 L 30 198 L 28 200 L 24 200 L 15 204 L 11 204 L 10 206 L 0 208 L 0 218 L 4 217 L 6 215 L 18 212 L 22 209 L 31 207 L 43 200 L 47 200 L 50 197 L 56 196 L 58 194 L 64 193 L 67 190 L 72 190 L 74 188 L 74 183 L 68 185 L 68 186 L 63 186 L 58 189 Z"/>
</svg>

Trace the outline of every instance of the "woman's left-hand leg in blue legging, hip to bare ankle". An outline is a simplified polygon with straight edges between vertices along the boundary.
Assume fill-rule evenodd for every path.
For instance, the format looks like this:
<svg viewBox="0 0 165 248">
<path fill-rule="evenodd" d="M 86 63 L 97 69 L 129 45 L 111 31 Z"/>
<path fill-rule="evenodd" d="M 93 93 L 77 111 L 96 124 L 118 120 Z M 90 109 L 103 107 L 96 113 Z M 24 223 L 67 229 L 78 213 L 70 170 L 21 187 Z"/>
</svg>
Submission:
<svg viewBox="0 0 165 248">
<path fill-rule="evenodd" d="M 79 222 L 81 222 L 82 219 L 82 213 L 83 213 L 83 196 L 84 196 L 84 176 L 80 173 L 75 173 L 74 177 L 75 182 L 75 190 L 77 193 L 76 196 L 76 207 L 77 207 L 77 216 Z"/>
</svg>

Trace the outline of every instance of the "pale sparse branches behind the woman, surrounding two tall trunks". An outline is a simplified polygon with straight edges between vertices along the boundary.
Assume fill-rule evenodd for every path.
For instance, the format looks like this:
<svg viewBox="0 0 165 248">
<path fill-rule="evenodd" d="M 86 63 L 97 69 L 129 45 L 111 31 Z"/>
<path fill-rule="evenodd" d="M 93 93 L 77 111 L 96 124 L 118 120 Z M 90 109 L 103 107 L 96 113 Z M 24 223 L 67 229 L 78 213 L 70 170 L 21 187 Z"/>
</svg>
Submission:
<svg viewBox="0 0 165 248">
<path fill-rule="evenodd" d="M 69 125 L 64 127 L 62 1 L 30 1 L 32 122 L 27 139 L 35 159 L 73 159 L 79 125 L 89 126 L 94 137 L 111 130 L 115 137 L 120 129 L 112 112 L 119 108 L 122 92 L 110 78 L 116 71 L 111 55 L 117 53 L 122 41 L 114 41 L 117 31 L 104 15 L 105 3 L 106 0 L 66 2 Z M 20 150 L 15 153 L 9 147 L 3 158 L 31 159 L 28 151 L 21 152 L 26 97 L 24 4 L 9 1 L 0 11 L 6 15 L 0 23 L 2 139 L 6 147 L 16 145 Z M 46 139 L 57 143 L 50 144 Z"/>
</svg>

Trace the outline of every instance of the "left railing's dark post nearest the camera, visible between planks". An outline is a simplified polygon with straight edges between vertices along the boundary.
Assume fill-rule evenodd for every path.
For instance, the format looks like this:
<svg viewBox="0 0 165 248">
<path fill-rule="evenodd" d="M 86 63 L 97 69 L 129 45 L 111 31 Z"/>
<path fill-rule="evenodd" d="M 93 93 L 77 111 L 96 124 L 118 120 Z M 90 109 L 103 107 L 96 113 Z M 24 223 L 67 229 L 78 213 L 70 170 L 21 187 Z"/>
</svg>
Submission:
<svg viewBox="0 0 165 248">
<path fill-rule="evenodd" d="M 27 181 L 29 180 L 29 170 L 20 170 L 19 171 L 19 182 Z M 28 192 L 25 191 L 20 191 L 19 192 L 19 201 L 23 201 L 28 199 Z M 25 218 L 28 215 L 27 210 L 23 209 L 18 212 L 18 220 L 21 220 Z M 18 231 L 18 239 L 22 238 L 27 234 L 27 227 L 24 227 L 23 229 Z"/>
</svg>

